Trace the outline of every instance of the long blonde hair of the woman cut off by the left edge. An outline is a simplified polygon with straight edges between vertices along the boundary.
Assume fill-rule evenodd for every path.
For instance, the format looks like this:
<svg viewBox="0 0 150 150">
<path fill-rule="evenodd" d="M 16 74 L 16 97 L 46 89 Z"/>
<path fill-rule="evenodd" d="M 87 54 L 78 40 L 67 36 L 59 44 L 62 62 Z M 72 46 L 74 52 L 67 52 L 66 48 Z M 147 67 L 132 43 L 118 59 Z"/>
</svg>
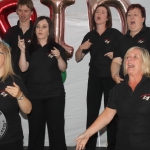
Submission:
<svg viewBox="0 0 150 150">
<path fill-rule="evenodd" d="M 2 76 L 2 82 L 4 82 L 8 76 L 15 75 L 15 73 L 12 69 L 10 47 L 5 42 L 0 41 L 0 49 L 4 55 L 4 70 Z"/>
</svg>

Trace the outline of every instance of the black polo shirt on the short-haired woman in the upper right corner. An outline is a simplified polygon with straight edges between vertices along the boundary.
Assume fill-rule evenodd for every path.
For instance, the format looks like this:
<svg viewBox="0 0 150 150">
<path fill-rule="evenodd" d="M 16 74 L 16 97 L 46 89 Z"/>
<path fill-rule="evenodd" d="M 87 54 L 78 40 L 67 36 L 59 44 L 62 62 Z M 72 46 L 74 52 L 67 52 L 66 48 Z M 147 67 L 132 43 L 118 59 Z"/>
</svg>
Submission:
<svg viewBox="0 0 150 150">
<path fill-rule="evenodd" d="M 114 49 L 114 58 L 124 56 L 127 50 L 133 46 L 147 49 L 150 52 L 150 28 L 144 26 L 142 30 L 134 37 L 130 35 L 130 30 L 123 35 L 116 43 Z"/>
</svg>

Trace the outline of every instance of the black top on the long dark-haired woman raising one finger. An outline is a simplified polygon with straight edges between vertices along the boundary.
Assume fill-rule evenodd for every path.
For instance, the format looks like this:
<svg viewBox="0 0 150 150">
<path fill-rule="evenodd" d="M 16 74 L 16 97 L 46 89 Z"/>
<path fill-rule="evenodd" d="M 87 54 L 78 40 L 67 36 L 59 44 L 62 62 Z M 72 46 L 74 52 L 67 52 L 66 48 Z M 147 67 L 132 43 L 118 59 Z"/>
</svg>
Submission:
<svg viewBox="0 0 150 150">
<path fill-rule="evenodd" d="M 65 50 L 59 44 L 54 46 L 60 51 L 62 59 L 67 64 Z M 37 44 L 27 48 L 26 59 L 29 62 L 27 89 L 33 99 L 61 96 L 65 94 L 61 71 L 56 57 L 49 57 L 51 44 Z"/>
</svg>

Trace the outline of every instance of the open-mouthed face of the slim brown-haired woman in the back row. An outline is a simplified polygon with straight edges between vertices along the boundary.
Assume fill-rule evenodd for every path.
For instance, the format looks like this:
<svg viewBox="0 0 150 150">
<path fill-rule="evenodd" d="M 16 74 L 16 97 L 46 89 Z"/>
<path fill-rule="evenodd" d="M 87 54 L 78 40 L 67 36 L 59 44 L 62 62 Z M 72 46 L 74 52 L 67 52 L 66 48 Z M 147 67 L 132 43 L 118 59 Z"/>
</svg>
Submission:
<svg viewBox="0 0 150 150">
<path fill-rule="evenodd" d="M 94 16 L 94 20 L 96 25 L 106 25 L 106 22 L 108 20 L 107 17 L 107 9 L 105 7 L 98 7 L 96 12 L 95 12 L 95 16 Z"/>
</svg>

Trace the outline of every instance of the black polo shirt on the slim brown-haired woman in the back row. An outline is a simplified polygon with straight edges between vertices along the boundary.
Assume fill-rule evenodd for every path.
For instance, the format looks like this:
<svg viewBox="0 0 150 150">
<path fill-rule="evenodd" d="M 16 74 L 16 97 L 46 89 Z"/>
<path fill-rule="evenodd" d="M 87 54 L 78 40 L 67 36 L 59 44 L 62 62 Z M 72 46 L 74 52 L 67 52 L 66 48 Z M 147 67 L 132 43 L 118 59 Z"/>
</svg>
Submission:
<svg viewBox="0 0 150 150">
<path fill-rule="evenodd" d="M 122 36 L 122 33 L 113 28 L 107 28 L 105 32 L 100 35 L 96 30 L 88 32 L 82 43 L 88 39 L 92 43 L 91 47 L 82 52 L 87 54 L 90 52 L 90 71 L 89 74 L 99 77 L 110 77 L 111 59 L 104 54 L 113 52 L 114 43 Z"/>
</svg>

